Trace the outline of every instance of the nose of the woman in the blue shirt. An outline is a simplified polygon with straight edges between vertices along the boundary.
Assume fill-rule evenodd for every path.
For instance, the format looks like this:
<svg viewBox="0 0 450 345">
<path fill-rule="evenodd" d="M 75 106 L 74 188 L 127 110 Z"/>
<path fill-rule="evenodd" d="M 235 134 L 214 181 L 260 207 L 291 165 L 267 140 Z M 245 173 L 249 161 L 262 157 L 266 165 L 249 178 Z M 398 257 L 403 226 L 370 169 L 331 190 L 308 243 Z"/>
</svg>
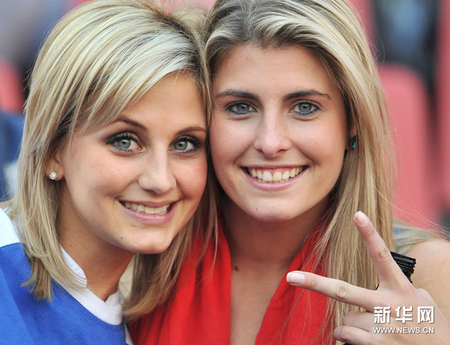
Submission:
<svg viewBox="0 0 450 345">
<path fill-rule="evenodd" d="M 152 152 L 147 159 L 142 159 L 142 171 L 138 177 L 142 189 L 155 194 L 164 194 L 176 186 L 167 151 Z"/>
</svg>

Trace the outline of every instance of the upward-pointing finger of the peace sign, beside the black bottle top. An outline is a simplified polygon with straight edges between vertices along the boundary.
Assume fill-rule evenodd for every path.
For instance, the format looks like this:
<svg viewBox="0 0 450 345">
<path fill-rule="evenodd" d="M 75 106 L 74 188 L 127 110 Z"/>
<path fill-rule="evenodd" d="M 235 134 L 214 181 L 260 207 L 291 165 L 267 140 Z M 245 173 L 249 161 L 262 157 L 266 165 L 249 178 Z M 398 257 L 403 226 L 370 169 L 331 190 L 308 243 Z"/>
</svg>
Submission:
<svg viewBox="0 0 450 345">
<path fill-rule="evenodd" d="M 408 281 L 370 219 L 361 211 L 356 212 L 353 219 L 378 272 L 380 284 L 383 282 L 389 287 L 395 287 L 399 282 Z"/>
</svg>

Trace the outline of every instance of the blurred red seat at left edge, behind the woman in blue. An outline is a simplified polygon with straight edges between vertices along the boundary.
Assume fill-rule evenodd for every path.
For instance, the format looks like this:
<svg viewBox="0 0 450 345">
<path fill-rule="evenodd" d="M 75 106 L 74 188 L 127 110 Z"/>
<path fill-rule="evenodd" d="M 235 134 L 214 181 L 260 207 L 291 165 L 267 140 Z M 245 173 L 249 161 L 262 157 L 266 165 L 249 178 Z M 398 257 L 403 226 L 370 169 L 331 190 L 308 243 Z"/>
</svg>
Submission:
<svg viewBox="0 0 450 345">
<path fill-rule="evenodd" d="M 23 84 L 17 68 L 0 58 L 0 109 L 5 112 L 23 111 Z"/>
</svg>

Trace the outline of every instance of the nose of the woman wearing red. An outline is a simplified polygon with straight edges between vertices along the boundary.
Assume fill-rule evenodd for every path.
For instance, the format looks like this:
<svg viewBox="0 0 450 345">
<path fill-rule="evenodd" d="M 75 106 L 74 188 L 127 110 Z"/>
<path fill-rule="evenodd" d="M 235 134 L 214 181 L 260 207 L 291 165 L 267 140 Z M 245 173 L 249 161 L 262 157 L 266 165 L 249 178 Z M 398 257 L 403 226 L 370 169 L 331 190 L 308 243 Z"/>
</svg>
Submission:
<svg viewBox="0 0 450 345">
<path fill-rule="evenodd" d="M 266 157 L 273 158 L 290 148 L 288 123 L 282 114 L 276 112 L 263 114 L 256 129 L 253 146 Z"/>
</svg>

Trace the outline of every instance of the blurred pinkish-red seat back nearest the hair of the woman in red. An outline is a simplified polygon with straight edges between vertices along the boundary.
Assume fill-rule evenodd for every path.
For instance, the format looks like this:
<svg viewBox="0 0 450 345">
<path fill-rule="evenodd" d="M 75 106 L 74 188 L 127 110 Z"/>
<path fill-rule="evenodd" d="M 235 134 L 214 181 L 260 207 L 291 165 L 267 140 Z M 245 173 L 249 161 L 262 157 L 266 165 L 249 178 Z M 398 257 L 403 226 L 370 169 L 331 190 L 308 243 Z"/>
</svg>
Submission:
<svg viewBox="0 0 450 345">
<path fill-rule="evenodd" d="M 437 223 L 438 171 L 430 137 L 431 108 L 423 81 L 407 67 L 379 67 L 397 161 L 394 213 L 417 226 Z"/>
</svg>

